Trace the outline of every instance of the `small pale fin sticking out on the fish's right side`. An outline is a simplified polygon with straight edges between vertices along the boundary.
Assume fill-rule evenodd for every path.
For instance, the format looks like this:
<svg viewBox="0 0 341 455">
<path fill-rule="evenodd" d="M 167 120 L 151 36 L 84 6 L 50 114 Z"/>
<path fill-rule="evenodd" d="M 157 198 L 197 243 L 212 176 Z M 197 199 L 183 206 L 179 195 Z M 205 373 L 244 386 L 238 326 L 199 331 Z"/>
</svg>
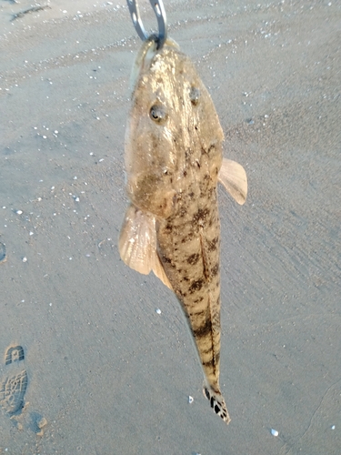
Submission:
<svg viewBox="0 0 341 455">
<path fill-rule="evenodd" d="M 244 167 L 232 161 L 223 158 L 223 164 L 218 174 L 218 180 L 226 187 L 226 190 L 241 206 L 246 201 L 247 195 L 247 177 Z"/>
</svg>

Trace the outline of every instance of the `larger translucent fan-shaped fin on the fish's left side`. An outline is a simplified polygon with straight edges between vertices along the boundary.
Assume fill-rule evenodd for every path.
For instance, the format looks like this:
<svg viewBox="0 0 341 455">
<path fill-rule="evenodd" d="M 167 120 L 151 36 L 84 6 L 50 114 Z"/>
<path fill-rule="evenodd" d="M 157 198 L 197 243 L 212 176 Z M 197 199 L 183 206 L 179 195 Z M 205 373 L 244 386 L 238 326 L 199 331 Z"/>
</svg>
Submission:
<svg viewBox="0 0 341 455">
<path fill-rule="evenodd" d="M 153 215 L 130 205 L 125 212 L 118 248 L 122 260 L 128 267 L 143 275 L 148 275 L 153 270 L 155 276 L 172 289 L 165 275 L 165 269 L 157 256 Z"/>
</svg>

